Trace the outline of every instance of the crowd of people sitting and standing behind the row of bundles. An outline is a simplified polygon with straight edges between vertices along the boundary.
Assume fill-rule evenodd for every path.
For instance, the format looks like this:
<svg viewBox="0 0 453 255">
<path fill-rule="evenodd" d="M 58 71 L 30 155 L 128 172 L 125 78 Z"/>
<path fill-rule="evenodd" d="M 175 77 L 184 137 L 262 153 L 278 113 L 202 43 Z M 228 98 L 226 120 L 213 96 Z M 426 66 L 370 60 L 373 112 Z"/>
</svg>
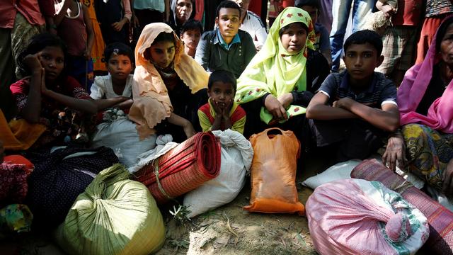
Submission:
<svg viewBox="0 0 453 255">
<path fill-rule="evenodd" d="M 304 155 L 333 150 L 336 162 L 384 147 L 390 169 L 453 198 L 449 0 L 28 0 L 0 11 L 0 156 L 21 153 L 38 169 L 36 220 L 62 220 L 42 203 L 60 198 L 36 166 L 55 147 L 89 151 L 79 163 L 99 162 L 93 173 L 118 161 L 90 149 L 109 108 L 141 139 L 278 127 Z M 384 25 L 364 29 L 376 12 Z M 84 187 L 69 182 L 74 200 Z"/>
</svg>

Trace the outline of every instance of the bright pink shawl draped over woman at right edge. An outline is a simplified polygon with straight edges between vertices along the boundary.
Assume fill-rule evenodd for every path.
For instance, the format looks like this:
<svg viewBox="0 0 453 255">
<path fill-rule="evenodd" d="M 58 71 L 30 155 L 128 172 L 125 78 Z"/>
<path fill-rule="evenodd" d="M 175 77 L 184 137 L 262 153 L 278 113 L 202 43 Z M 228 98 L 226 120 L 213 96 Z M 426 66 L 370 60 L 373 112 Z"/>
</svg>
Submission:
<svg viewBox="0 0 453 255">
<path fill-rule="evenodd" d="M 420 123 L 435 130 L 453 133 L 453 81 L 450 81 L 442 97 L 432 103 L 427 116 L 415 112 L 430 84 L 432 68 L 440 61 L 435 45 L 434 38 L 423 63 L 411 67 L 406 72 L 398 89 L 401 125 Z"/>
</svg>

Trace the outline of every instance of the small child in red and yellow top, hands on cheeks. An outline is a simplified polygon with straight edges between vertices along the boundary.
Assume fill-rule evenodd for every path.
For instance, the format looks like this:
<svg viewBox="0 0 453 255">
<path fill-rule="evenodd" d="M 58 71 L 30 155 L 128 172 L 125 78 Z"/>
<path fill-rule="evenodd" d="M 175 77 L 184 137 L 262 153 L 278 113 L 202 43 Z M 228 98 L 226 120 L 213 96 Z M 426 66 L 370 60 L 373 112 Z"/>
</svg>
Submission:
<svg viewBox="0 0 453 255">
<path fill-rule="evenodd" d="M 203 131 L 231 129 L 243 133 L 246 112 L 234 102 L 236 78 L 225 70 L 212 72 L 207 84 L 208 103 L 198 110 Z"/>
</svg>

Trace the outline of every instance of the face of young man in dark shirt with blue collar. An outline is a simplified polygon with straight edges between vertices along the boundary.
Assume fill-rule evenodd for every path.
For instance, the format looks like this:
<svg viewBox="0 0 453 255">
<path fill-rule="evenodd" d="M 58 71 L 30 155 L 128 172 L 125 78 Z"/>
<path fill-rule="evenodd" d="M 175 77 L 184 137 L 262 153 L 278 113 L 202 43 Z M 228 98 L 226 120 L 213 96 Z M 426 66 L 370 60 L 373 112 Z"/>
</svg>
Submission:
<svg viewBox="0 0 453 255">
<path fill-rule="evenodd" d="M 239 30 L 239 10 L 235 8 L 221 8 L 219 10 L 219 16 L 215 18 L 215 23 L 219 26 L 220 34 L 225 42 L 231 42 Z"/>
</svg>

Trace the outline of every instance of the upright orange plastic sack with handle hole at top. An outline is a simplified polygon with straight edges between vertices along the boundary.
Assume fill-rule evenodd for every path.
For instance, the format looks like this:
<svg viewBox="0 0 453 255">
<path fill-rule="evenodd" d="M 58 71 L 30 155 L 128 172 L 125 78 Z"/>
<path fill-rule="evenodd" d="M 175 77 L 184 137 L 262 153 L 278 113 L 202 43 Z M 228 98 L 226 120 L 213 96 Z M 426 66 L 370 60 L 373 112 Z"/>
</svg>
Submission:
<svg viewBox="0 0 453 255">
<path fill-rule="evenodd" d="M 297 159 L 300 143 L 292 131 L 269 128 L 252 135 L 249 212 L 297 212 L 304 215 L 304 205 L 299 202 L 296 188 Z"/>
</svg>

